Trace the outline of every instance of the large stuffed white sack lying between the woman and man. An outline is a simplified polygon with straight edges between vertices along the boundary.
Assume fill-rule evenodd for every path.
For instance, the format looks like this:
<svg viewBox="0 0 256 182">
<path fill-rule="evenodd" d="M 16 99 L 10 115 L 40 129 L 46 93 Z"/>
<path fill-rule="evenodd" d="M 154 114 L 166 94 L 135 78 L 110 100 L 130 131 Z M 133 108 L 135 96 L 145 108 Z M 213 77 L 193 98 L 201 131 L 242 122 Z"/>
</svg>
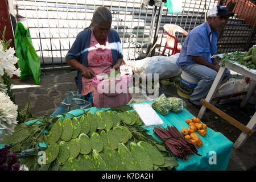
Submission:
<svg viewBox="0 0 256 182">
<path fill-rule="evenodd" d="M 159 80 L 179 76 L 181 75 L 182 69 L 176 65 L 178 57 L 179 53 L 168 57 L 146 57 L 142 60 L 135 61 L 133 71 L 139 75 L 152 73 L 152 79 L 154 79 L 154 73 L 158 73 Z"/>
</svg>

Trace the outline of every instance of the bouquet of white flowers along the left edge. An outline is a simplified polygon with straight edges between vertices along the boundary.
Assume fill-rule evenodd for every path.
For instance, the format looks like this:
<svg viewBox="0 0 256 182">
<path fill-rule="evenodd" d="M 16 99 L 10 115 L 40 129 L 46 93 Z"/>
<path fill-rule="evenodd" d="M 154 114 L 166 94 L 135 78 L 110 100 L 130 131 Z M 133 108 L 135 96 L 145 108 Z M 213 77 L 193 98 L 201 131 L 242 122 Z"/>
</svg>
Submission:
<svg viewBox="0 0 256 182">
<path fill-rule="evenodd" d="M 0 40 L 0 141 L 6 135 L 13 134 L 17 124 L 18 106 L 10 89 L 10 78 L 13 75 L 20 76 L 19 69 L 15 67 L 18 58 L 14 56 L 14 48 L 8 48 L 11 39 L 5 41 L 5 31 L 6 28 Z"/>
</svg>

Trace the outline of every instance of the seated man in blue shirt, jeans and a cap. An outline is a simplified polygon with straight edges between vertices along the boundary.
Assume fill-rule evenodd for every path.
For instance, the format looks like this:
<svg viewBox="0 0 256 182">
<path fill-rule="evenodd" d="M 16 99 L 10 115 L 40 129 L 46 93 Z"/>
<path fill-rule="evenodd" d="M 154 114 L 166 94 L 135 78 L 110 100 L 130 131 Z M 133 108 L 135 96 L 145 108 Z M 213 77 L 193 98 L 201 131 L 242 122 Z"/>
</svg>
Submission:
<svg viewBox="0 0 256 182">
<path fill-rule="evenodd" d="M 207 22 L 200 24 L 188 32 L 176 64 L 199 82 L 189 97 L 189 102 L 201 106 L 201 98 L 205 98 L 217 75 L 220 65 L 218 60 L 210 59 L 217 52 L 217 36 L 225 21 L 234 13 L 225 6 L 214 6 L 207 13 Z M 227 70 L 225 76 L 229 76 Z"/>
</svg>

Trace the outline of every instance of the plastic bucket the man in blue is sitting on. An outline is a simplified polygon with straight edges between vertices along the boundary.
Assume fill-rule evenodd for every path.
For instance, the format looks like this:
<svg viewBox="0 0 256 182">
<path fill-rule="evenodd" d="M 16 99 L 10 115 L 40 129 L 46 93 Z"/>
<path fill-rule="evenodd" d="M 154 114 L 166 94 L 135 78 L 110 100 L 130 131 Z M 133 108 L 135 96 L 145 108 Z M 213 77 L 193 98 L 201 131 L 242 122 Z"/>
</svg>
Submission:
<svg viewBox="0 0 256 182">
<path fill-rule="evenodd" d="M 177 94 L 179 94 L 180 97 L 189 98 L 198 82 L 199 80 L 197 80 L 197 78 L 182 71 Z"/>
</svg>

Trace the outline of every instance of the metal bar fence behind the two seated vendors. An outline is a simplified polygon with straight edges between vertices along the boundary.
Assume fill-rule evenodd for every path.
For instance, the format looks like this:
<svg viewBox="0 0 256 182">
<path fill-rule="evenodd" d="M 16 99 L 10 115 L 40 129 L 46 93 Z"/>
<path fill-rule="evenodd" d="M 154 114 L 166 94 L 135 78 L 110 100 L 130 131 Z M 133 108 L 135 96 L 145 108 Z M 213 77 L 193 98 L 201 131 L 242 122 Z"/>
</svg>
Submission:
<svg viewBox="0 0 256 182">
<path fill-rule="evenodd" d="M 229 5 L 236 12 L 220 32 L 218 53 L 246 51 L 255 44 L 255 5 L 248 1 L 183 0 L 182 11 L 170 14 L 167 7 L 148 5 L 142 9 L 144 0 L 16 0 L 16 21 L 30 30 L 31 39 L 41 61 L 42 69 L 68 68 L 65 54 L 76 35 L 88 27 L 93 11 L 106 6 L 112 11 L 112 27 L 117 30 L 125 60 L 143 59 L 156 44 L 151 56 L 161 55 L 166 34 L 163 26 L 177 24 L 187 32 L 205 22 L 207 11 L 214 5 Z M 162 35 L 158 42 L 156 38 Z M 185 36 L 177 34 L 180 44 Z M 166 51 L 165 55 L 169 55 Z"/>
</svg>

